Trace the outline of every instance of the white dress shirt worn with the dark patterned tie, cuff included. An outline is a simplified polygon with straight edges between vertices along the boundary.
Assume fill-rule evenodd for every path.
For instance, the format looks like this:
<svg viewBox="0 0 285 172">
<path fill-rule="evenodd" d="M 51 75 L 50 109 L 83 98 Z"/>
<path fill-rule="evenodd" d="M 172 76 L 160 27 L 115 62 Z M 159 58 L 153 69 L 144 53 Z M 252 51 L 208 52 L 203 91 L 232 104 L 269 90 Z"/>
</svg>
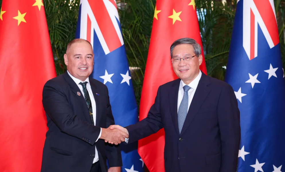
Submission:
<svg viewBox="0 0 285 172">
<path fill-rule="evenodd" d="M 81 95 L 84 97 L 84 93 L 83 93 L 83 86 L 80 85 L 79 83 L 80 82 L 88 82 L 86 84 L 86 88 L 87 88 L 87 91 L 89 93 L 89 96 L 90 96 L 90 99 L 91 99 L 91 105 L 92 105 L 92 111 L 93 111 L 93 119 L 94 119 L 94 125 L 96 124 L 96 102 L 95 102 L 95 98 L 94 98 L 94 95 L 92 93 L 92 90 L 91 90 L 91 85 L 90 85 L 90 82 L 89 82 L 89 78 L 87 78 L 85 81 L 81 81 L 77 78 L 75 78 L 74 76 L 72 76 L 68 71 L 67 73 L 69 74 L 69 76 L 74 80 L 74 82 L 77 84 L 77 86 L 79 87 L 80 91 L 81 91 Z M 85 99 L 85 97 L 84 97 Z M 87 106 L 87 105 L 86 105 Z M 97 138 L 96 142 L 98 141 L 98 139 L 101 137 L 101 133 L 102 133 L 102 128 L 101 128 L 101 131 L 100 131 L 100 134 L 99 134 L 99 137 Z M 93 163 L 99 161 L 99 156 L 98 156 L 98 151 L 97 151 L 97 148 L 95 146 L 95 158 L 93 159 Z"/>
</svg>

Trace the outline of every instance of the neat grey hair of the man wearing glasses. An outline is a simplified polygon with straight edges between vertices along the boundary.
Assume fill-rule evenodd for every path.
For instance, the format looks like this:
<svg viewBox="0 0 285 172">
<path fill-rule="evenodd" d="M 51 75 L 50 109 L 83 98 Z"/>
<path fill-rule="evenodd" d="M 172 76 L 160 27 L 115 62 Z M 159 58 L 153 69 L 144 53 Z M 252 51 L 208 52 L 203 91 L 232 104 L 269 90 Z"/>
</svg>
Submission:
<svg viewBox="0 0 285 172">
<path fill-rule="evenodd" d="M 173 52 L 173 49 L 175 46 L 178 46 L 180 44 L 190 44 L 193 46 L 194 48 L 194 53 L 197 55 L 197 57 L 199 57 L 199 55 L 202 53 L 202 50 L 201 50 L 201 46 L 200 44 L 197 43 L 197 41 L 195 39 L 192 39 L 192 38 L 180 38 L 180 39 L 177 39 L 176 41 L 174 41 L 171 46 L 170 46 L 170 56 L 172 58 L 172 52 Z"/>
</svg>

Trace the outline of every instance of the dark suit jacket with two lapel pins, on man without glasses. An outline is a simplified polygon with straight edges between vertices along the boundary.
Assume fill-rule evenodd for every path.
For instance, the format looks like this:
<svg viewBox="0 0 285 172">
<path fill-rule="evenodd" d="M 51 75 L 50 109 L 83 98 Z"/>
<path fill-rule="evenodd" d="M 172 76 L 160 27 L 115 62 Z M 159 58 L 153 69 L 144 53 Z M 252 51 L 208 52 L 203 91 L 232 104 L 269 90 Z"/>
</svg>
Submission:
<svg viewBox="0 0 285 172">
<path fill-rule="evenodd" d="M 89 172 L 95 157 L 95 146 L 102 172 L 108 171 L 106 158 L 110 167 L 122 166 L 118 145 L 106 144 L 102 139 L 95 143 L 100 127 L 107 128 L 115 123 L 107 87 L 93 78 L 89 78 L 89 82 L 96 102 L 95 126 L 92 125 L 83 93 L 67 72 L 44 85 L 42 103 L 48 131 L 41 172 Z"/>
</svg>

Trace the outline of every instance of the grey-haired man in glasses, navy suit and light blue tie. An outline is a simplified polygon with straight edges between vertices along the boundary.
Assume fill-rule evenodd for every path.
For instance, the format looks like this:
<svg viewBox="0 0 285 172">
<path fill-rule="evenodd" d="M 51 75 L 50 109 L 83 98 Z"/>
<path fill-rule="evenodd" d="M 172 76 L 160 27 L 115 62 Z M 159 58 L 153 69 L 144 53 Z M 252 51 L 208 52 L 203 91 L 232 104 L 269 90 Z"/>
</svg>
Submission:
<svg viewBox="0 0 285 172">
<path fill-rule="evenodd" d="M 128 133 L 128 143 L 164 128 L 166 172 L 235 172 L 241 131 L 232 87 L 200 71 L 201 47 L 194 39 L 176 40 L 170 54 L 179 79 L 159 86 L 147 118 L 110 128 Z"/>
</svg>

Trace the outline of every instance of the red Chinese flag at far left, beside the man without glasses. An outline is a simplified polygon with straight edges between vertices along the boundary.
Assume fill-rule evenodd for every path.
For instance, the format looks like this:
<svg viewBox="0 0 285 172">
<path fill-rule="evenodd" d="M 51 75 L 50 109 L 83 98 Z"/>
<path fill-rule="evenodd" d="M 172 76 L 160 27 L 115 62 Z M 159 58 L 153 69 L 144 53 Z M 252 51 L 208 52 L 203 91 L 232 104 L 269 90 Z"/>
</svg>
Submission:
<svg viewBox="0 0 285 172">
<path fill-rule="evenodd" d="M 56 76 L 42 0 L 2 1 L 0 66 L 0 171 L 39 172 L 42 89 Z"/>
</svg>

